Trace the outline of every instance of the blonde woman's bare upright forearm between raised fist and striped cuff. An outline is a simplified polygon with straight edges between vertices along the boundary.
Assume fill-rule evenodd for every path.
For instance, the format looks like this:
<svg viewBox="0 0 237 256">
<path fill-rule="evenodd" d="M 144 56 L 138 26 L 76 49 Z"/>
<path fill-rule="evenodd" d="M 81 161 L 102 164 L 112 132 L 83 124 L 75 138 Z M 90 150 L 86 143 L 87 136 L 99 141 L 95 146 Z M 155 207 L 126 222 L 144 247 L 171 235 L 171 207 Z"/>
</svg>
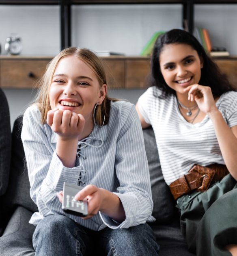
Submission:
<svg viewBox="0 0 237 256">
<path fill-rule="evenodd" d="M 78 139 L 61 139 L 58 136 L 56 154 L 65 167 L 75 167 Z"/>
</svg>

